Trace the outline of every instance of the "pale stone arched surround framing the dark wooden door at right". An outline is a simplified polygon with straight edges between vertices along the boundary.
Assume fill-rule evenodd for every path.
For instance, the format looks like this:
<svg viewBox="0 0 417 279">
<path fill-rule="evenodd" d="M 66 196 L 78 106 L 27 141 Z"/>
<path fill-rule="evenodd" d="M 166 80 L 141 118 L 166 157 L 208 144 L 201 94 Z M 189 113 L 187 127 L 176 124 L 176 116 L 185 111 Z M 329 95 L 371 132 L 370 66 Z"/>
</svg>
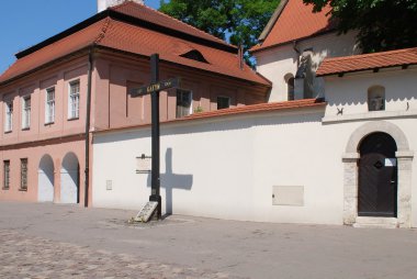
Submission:
<svg viewBox="0 0 417 279">
<path fill-rule="evenodd" d="M 358 127 L 348 141 L 343 161 L 343 223 L 352 225 L 358 217 L 358 148 L 363 138 L 372 133 L 386 133 L 397 145 L 398 166 L 397 226 L 412 226 L 412 163 L 414 153 L 403 131 L 393 123 L 374 121 Z"/>
</svg>

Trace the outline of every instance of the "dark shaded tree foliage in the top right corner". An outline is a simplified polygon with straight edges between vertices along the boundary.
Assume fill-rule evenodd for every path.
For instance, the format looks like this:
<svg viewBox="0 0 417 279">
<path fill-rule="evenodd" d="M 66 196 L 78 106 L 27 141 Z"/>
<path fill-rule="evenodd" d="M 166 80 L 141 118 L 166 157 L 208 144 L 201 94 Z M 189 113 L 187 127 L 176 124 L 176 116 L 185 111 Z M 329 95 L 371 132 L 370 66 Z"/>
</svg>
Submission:
<svg viewBox="0 0 417 279">
<path fill-rule="evenodd" d="M 330 4 L 339 33 L 358 30 L 364 53 L 417 46 L 417 0 L 303 0 L 314 11 Z"/>
</svg>

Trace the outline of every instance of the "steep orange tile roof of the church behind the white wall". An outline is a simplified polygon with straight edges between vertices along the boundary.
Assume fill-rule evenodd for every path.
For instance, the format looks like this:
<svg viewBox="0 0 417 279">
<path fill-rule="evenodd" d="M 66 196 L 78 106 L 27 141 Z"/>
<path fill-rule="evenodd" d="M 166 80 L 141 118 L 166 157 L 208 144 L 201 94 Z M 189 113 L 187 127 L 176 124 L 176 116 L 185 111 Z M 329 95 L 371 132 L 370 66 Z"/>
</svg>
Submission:
<svg viewBox="0 0 417 279">
<path fill-rule="evenodd" d="M 334 24 L 329 21 L 330 15 L 327 15 L 331 10 L 329 5 L 325 7 L 320 12 L 314 13 L 312 4 L 306 5 L 303 0 L 288 0 L 286 4 L 284 3 L 278 9 L 280 8 L 283 10 L 278 13 L 279 16 L 266 40 L 263 43 L 253 46 L 250 49 L 251 52 L 334 30 Z"/>
</svg>

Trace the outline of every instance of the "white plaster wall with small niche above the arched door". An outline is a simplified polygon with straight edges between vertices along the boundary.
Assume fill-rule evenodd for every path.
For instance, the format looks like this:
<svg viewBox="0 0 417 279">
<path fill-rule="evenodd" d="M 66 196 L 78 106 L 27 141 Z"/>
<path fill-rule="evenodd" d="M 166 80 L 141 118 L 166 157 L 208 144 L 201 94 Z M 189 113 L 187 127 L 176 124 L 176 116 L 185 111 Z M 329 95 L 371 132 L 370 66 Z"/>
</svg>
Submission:
<svg viewBox="0 0 417 279">
<path fill-rule="evenodd" d="M 330 129 L 345 127 L 350 123 L 388 122 L 405 135 L 409 154 L 417 149 L 417 67 L 409 66 L 346 74 L 342 77 L 325 77 L 326 107 L 323 123 Z M 385 110 L 368 111 L 368 89 L 373 86 L 385 88 Z M 342 111 L 342 113 L 338 113 Z M 359 126 L 358 126 L 359 127 Z M 376 132 L 376 131 L 375 131 Z M 398 143 L 397 143 L 398 144 Z M 408 166 L 407 166 L 408 168 Z M 417 226 L 417 161 L 412 158 L 412 225 Z M 398 185 L 402 187 L 402 185 Z M 402 189 L 398 188 L 401 192 Z M 399 203 L 401 201 L 398 201 Z"/>
</svg>

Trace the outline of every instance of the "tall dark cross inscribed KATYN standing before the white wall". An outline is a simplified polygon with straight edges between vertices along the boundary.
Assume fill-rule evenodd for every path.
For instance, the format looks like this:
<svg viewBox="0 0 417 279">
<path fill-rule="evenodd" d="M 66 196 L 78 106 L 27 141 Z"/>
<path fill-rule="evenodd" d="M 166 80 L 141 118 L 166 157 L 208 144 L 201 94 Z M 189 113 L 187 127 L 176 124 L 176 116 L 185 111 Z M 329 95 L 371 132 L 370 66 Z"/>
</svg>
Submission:
<svg viewBox="0 0 417 279">
<path fill-rule="evenodd" d="M 149 202 L 158 202 L 155 217 L 161 219 L 161 197 L 160 197 L 160 147 L 159 147 L 159 91 L 179 87 L 180 79 L 171 78 L 159 81 L 159 55 L 150 56 L 150 85 L 134 88 L 131 90 L 132 97 L 145 94 L 151 96 L 151 190 Z"/>
</svg>

